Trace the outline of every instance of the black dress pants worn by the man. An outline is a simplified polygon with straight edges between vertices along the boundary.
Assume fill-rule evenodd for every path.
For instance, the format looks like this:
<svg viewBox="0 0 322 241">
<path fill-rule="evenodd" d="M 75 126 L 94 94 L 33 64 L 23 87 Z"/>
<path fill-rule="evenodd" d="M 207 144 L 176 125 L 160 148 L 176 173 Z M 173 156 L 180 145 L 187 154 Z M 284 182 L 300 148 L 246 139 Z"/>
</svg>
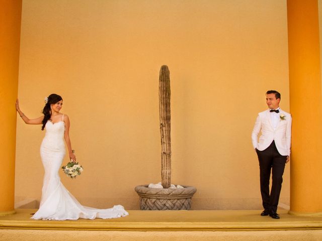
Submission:
<svg viewBox="0 0 322 241">
<path fill-rule="evenodd" d="M 256 149 L 260 164 L 260 183 L 263 207 L 268 211 L 277 211 L 278 200 L 282 189 L 283 173 L 287 156 L 277 151 L 275 142 L 264 151 Z M 270 176 L 272 171 L 272 189 L 269 192 Z"/>
</svg>

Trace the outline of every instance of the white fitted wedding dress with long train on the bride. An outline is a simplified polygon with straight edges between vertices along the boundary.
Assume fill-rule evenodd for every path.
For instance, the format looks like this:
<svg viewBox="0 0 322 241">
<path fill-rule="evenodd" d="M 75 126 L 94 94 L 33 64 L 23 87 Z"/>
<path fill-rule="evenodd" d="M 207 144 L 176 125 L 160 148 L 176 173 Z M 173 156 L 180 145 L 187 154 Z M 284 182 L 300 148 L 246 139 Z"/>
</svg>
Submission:
<svg viewBox="0 0 322 241">
<path fill-rule="evenodd" d="M 62 116 L 63 119 L 63 116 Z M 58 170 L 65 156 L 63 121 L 47 121 L 46 135 L 41 143 L 40 156 L 45 169 L 42 196 L 38 211 L 31 217 L 43 220 L 76 220 L 78 218 L 115 218 L 128 215 L 121 205 L 108 209 L 83 206 L 60 182 Z"/>
</svg>

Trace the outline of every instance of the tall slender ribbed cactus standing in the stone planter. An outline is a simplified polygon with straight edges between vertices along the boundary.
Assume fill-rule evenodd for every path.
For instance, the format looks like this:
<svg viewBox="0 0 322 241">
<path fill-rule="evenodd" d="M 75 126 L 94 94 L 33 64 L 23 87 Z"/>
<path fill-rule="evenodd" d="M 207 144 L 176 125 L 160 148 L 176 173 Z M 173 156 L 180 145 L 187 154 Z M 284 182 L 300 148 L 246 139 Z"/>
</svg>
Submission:
<svg viewBox="0 0 322 241">
<path fill-rule="evenodd" d="M 167 65 L 161 66 L 159 75 L 159 114 L 161 134 L 161 177 L 162 186 L 171 183 L 171 113 L 170 113 L 170 71 Z"/>
</svg>

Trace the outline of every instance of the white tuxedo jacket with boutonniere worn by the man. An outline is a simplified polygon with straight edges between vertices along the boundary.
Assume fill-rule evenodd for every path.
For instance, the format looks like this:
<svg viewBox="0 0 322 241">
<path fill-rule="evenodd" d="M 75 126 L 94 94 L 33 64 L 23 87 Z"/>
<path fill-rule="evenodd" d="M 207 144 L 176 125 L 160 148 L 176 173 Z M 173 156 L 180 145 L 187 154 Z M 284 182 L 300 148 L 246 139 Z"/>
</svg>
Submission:
<svg viewBox="0 0 322 241">
<path fill-rule="evenodd" d="M 274 130 L 270 110 L 268 109 L 258 114 L 252 133 L 254 149 L 257 148 L 259 151 L 264 151 L 274 140 L 279 154 L 282 156 L 290 155 L 292 117 L 290 113 L 281 109 L 279 115 L 284 115 L 285 117 L 284 119 L 279 119 L 279 123 Z M 260 131 L 262 131 L 262 135 L 258 139 Z"/>
</svg>

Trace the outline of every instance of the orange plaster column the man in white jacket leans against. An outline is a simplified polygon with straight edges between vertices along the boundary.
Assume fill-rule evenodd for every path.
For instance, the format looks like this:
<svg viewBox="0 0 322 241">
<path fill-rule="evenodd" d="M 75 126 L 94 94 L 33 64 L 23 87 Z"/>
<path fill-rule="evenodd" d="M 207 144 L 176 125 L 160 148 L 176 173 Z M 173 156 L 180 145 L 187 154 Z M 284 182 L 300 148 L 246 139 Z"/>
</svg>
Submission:
<svg viewBox="0 0 322 241">
<path fill-rule="evenodd" d="M 290 211 L 322 214 L 322 99 L 317 0 L 288 0 Z"/>
</svg>

